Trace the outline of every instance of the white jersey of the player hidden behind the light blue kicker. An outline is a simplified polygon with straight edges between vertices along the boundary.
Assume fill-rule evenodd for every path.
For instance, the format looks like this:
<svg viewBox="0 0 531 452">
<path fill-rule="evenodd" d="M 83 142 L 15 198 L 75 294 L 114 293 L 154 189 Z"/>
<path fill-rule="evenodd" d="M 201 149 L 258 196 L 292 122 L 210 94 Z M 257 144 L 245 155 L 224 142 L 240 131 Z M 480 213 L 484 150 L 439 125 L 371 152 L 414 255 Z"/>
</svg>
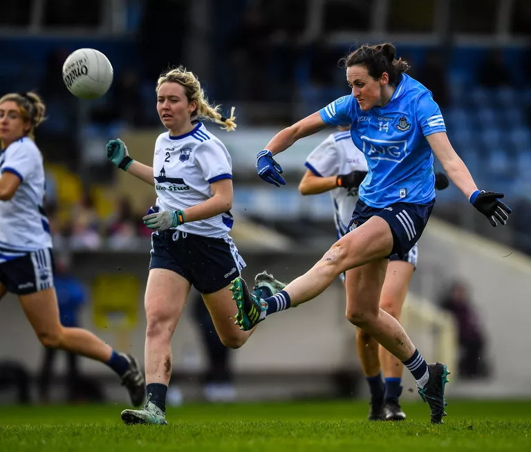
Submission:
<svg viewBox="0 0 531 452">
<path fill-rule="evenodd" d="M 360 149 L 352 142 L 349 131 L 332 133 L 306 158 L 306 167 L 319 177 L 367 171 L 367 162 Z M 337 238 L 348 232 L 352 212 L 357 203 L 357 189 L 337 187 L 330 190 L 334 204 L 334 222 Z"/>
</svg>

